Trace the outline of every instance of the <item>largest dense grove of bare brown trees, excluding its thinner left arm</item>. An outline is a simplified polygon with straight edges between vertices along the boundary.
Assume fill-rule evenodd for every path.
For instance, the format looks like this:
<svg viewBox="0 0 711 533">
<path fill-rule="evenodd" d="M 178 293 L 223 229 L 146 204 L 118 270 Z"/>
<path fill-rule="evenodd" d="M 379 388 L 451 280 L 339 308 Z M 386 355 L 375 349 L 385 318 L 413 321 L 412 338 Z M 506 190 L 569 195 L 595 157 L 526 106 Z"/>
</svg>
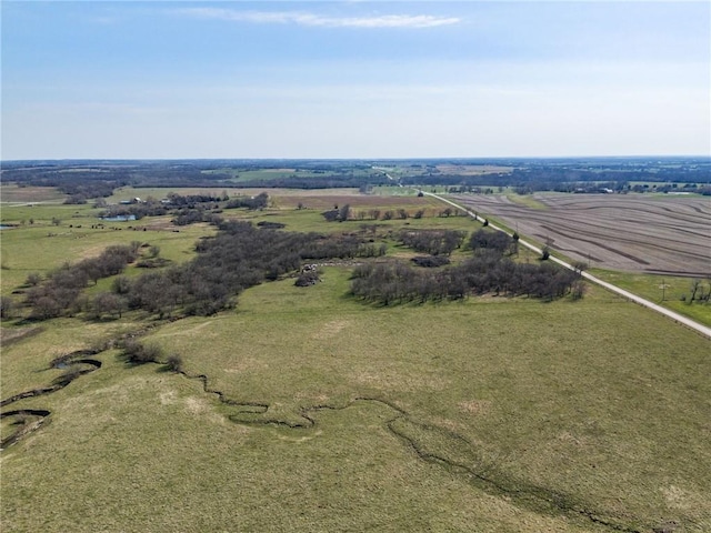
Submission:
<svg viewBox="0 0 711 533">
<path fill-rule="evenodd" d="M 233 305 L 234 296 L 244 289 L 298 271 L 303 260 L 384 253 L 383 247 L 352 235 L 282 232 L 236 221 L 219 228 L 216 238 L 198 243 L 194 260 L 134 279 L 119 276 L 113 293 L 128 309 L 161 318 L 176 312 L 210 315 Z"/>
</svg>

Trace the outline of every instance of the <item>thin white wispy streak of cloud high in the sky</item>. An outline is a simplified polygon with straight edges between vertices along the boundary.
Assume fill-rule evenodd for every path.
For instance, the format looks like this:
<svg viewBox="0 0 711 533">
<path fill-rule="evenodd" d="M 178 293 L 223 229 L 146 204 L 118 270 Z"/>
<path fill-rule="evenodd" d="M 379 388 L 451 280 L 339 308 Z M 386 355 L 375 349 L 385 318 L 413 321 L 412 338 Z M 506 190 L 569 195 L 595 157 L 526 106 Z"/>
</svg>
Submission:
<svg viewBox="0 0 711 533">
<path fill-rule="evenodd" d="M 188 8 L 180 13 L 193 17 L 221 19 L 234 22 L 292 23 L 318 28 L 434 28 L 455 24 L 455 17 L 434 17 L 431 14 L 383 14 L 378 17 L 323 17 L 298 11 L 237 11 L 220 8 Z"/>
</svg>

